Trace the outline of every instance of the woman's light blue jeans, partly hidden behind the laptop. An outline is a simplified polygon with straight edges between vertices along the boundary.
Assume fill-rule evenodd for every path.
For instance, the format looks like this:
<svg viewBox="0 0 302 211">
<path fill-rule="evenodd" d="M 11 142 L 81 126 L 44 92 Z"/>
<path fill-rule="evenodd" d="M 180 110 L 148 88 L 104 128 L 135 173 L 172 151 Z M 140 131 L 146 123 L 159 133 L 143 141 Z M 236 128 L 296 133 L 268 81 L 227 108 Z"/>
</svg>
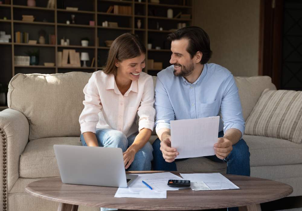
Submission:
<svg viewBox="0 0 302 211">
<path fill-rule="evenodd" d="M 125 152 L 129 146 L 134 142 L 136 134 L 129 136 L 128 138 L 124 133 L 113 130 L 113 129 L 97 129 L 96 138 L 98 140 L 98 146 L 103 147 L 118 147 Z M 87 146 L 83 135 L 81 134 L 80 139 L 83 146 Z M 148 141 L 143 148 L 141 148 L 134 156 L 134 160 L 131 163 L 129 171 L 150 171 L 151 161 L 153 160 L 152 155 L 153 148 Z"/>
</svg>

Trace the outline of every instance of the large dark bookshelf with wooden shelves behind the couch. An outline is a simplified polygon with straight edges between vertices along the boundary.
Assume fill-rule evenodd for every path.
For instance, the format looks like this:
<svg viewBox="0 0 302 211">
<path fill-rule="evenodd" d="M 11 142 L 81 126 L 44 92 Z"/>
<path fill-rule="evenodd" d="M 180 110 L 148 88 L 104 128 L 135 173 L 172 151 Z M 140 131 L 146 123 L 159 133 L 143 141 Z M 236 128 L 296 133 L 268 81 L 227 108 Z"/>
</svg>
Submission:
<svg viewBox="0 0 302 211">
<path fill-rule="evenodd" d="M 152 2 L 150 2 L 152 1 Z M 2 1 L 4 2 L 4 1 Z M 63 3 L 62 3 L 63 2 Z M 110 6 L 130 6 L 131 14 L 107 13 Z M 77 7 L 77 11 L 66 10 L 66 7 Z M 173 18 L 167 17 L 167 10 L 173 10 Z M 18 73 L 66 73 L 69 71 L 93 72 L 99 70 L 107 59 L 109 47 L 105 40 L 114 40 L 123 33 L 137 34 L 146 46 L 146 59 L 162 62 L 163 68 L 169 66 L 170 50 L 166 43 L 166 36 L 171 29 L 177 29 L 178 23 L 192 25 L 193 0 L 57 0 L 54 8 L 47 8 L 47 1 L 36 1 L 36 7 L 27 6 L 26 1 L 11 0 L 10 4 L 0 5 L 0 31 L 10 34 L 9 43 L 0 43 L 0 61 L 2 63 L 0 83 L 8 83 Z M 175 18 L 182 12 L 191 14 L 191 18 Z M 75 15 L 75 24 L 71 22 L 71 15 Z M 22 15 L 33 15 L 34 21 L 22 21 Z M 90 26 L 89 21 L 95 22 Z M 141 20 L 141 27 L 137 27 L 137 20 Z M 102 26 L 102 22 L 117 22 L 118 27 Z M 162 27 L 162 30 L 160 28 Z M 45 44 L 15 43 L 15 32 L 28 32 L 30 40 L 39 43 L 39 30 L 46 32 Z M 55 35 L 55 44 L 49 44 L 48 35 Z M 69 39 L 70 45 L 61 45 L 62 38 Z M 81 46 L 81 38 L 88 37 L 88 46 Z M 148 43 L 152 49 L 148 49 Z M 159 50 L 155 49 L 160 47 Z M 39 65 L 20 66 L 14 64 L 14 56 L 26 55 L 28 50 L 40 50 Z M 87 68 L 57 66 L 57 54 L 63 49 L 75 49 L 76 52 L 88 52 L 90 60 Z M 91 67 L 92 58 L 95 62 Z M 43 66 L 44 62 L 53 62 L 52 67 Z M 82 62 L 81 62 L 82 65 Z M 151 75 L 156 75 L 160 70 L 155 68 L 144 69 Z"/>
</svg>

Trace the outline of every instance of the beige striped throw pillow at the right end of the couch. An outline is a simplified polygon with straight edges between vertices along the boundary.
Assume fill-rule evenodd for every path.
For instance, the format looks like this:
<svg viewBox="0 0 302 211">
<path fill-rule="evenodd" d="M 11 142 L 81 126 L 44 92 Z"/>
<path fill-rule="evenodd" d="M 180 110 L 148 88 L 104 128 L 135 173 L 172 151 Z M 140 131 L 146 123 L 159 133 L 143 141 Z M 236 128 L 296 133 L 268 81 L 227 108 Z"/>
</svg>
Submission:
<svg viewBox="0 0 302 211">
<path fill-rule="evenodd" d="M 245 134 L 302 142 L 302 91 L 265 89 L 246 120 Z"/>
</svg>

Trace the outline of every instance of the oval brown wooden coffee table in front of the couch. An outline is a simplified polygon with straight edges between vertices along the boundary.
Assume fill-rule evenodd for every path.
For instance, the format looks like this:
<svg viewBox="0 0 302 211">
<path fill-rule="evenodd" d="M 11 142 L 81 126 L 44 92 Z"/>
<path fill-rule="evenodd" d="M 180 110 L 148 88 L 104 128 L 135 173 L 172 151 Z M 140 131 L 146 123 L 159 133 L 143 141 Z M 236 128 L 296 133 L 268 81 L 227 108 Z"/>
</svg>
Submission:
<svg viewBox="0 0 302 211">
<path fill-rule="evenodd" d="M 157 173 L 127 172 L 132 174 Z M 198 172 L 172 172 L 198 173 Z M 79 205 L 124 210 L 201 210 L 239 207 L 260 211 L 260 203 L 288 196 L 293 188 L 287 184 L 255 177 L 224 175 L 240 189 L 192 191 L 191 188 L 167 191 L 166 199 L 114 198 L 117 187 L 63 184 L 61 178 L 35 181 L 25 187 L 29 194 L 59 202 L 58 210 L 76 211 Z"/>
</svg>

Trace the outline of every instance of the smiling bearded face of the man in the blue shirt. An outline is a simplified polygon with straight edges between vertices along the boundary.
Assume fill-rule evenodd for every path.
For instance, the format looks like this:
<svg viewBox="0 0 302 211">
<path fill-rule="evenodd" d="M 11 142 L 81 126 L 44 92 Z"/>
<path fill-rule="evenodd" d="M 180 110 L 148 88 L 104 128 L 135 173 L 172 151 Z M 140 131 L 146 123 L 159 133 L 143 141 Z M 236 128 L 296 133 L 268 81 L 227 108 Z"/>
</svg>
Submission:
<svg viewBox="0 0 302 211">
<path fill-rule="evenodd" d="M 187 52 L 188 45 L 188 39 L 173 40 L 171 43 L 170 63 L 174 65 L 173 73 L 175 76 L 186 77 L 194 71 L 195 64 Z"/>
</svg>

